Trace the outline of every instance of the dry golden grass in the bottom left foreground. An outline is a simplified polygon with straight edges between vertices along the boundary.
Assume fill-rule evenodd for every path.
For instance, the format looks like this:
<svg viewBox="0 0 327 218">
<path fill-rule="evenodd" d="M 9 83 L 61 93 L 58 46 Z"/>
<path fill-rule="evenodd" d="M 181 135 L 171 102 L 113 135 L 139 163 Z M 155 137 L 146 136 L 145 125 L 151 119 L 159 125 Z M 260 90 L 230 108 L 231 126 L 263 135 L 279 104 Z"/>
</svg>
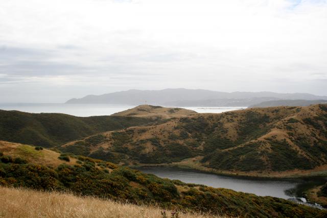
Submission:
<svg viewBox="0 0 327 218">
<path fill-rule="evenodd" d="M 77 197 L 69 193 L 39 192 L 21 188 L 0 187 L 0 217 L 162 217 L 162 209 L 154 206 L 121 204 L 93 197 Z M 171 211 L 166 211 L 168 217 Z M 179 213 L 180 218 L 224 217 L 196 213 Z"/>
</svg>

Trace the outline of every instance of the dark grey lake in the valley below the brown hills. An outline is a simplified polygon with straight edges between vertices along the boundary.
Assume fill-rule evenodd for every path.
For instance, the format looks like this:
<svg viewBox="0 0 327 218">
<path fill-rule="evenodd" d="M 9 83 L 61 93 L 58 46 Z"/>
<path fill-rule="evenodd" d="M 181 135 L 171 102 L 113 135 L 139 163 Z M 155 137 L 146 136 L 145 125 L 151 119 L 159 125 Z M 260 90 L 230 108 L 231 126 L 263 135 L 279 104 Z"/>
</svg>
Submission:
<svg viewBox="0 0 327 218">
<path fill-rule="evenodd" d="M 271 196 L 294 201 L 301 199 L 302 192 L 327 181 L 326 177 L 301 179 L 265 179 L 221 176 L 180 169 L 176 167 L 138 167 L 139 171 L 154 174 L 161 178 L 178 179 L 185 183 L 203 184 L 215 188 L 228 188 L 235 191 L 254 193 L 258 196 Z M 308 203 L 307 203 L 308 204 Z M 311 205 L 310 206 L 314 206 Z M 316 205 L 318 206 L 318 205 Z"/>
</svg>

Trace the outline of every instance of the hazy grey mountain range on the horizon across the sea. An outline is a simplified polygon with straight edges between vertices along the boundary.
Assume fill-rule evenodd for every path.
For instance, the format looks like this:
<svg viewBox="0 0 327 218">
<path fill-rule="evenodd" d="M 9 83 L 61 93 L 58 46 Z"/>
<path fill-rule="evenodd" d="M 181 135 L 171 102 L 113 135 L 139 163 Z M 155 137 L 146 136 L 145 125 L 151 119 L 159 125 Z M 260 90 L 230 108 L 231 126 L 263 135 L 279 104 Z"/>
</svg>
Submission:
<svg viewBox="0 0 327 218">
<path fill-rule="evenodd" d="M 125 104 L 163 106 L 250 106 L 274 100 L 327 100 L 327 96 L 308 93 L 221 92 L 204 89 L 163 89 L 119 91 L 102 95 L 87 95 L 68 100 L 67 104 Z"/>
</svg>

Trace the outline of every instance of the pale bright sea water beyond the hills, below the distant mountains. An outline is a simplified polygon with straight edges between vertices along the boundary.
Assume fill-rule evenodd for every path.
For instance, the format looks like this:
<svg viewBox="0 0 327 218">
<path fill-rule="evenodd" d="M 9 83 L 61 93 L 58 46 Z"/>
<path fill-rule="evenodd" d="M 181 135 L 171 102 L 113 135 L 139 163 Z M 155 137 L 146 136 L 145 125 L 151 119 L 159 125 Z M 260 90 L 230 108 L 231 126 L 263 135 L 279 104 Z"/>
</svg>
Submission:
<svg viewBox="0 0 327 218">
<path fill-rule="evenodd" d="M 18 110 L 29 113 L 65 113 L 74 116 L 111 115 L 136 107 L 135 105 L 110 104 L 36 104 L 36 103 L 0 103 L 1 110 Z M 198 113 L 221 113 L 246 107 L 185 107 Z"/>
</svg>

